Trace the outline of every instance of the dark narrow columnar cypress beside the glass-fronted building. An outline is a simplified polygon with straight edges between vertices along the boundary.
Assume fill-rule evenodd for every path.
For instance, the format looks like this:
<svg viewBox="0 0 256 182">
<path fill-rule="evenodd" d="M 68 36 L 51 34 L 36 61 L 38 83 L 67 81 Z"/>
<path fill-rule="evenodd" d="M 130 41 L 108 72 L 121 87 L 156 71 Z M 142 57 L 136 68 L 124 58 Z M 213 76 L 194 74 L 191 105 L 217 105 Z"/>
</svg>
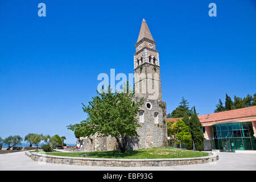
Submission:
<svg viewBox="0 0 256 182">
<path fill-rule="evenodd" d="M 202 125 L 197 117 L 197 114 L 192 114 L 190 118 L 190 129 L 193 143 L 195 144 L 196 150 L 204 150 L 204 134 L 202 131 Z"/>
</svg>

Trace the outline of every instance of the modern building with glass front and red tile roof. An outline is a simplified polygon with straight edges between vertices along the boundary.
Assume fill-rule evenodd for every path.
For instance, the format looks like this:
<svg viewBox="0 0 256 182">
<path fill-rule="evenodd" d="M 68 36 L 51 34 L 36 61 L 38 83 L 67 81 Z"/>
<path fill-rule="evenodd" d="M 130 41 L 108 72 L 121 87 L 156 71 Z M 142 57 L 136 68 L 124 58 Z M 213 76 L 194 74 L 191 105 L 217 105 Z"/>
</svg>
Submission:
<svg viewBox="0 0 256 182">
<path fill-rule="evenodd" d="M 199 119 L 205 150 L 256 150 L 256 106 L 199 115 Z"/>
</svg>

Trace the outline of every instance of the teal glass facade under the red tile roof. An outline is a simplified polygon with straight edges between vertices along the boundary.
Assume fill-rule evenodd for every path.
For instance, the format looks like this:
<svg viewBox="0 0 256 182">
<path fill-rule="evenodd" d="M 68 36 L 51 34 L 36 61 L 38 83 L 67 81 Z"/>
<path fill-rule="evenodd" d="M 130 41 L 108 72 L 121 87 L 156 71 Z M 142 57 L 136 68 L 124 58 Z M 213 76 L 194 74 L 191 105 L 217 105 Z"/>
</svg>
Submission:
<svg viewBox="0 0 256 182">
<path fill-rule="evenodd" d="M 213 148 L 220 151 L 256 150 L 251 122 L 213 125 Z"/>
</svg>

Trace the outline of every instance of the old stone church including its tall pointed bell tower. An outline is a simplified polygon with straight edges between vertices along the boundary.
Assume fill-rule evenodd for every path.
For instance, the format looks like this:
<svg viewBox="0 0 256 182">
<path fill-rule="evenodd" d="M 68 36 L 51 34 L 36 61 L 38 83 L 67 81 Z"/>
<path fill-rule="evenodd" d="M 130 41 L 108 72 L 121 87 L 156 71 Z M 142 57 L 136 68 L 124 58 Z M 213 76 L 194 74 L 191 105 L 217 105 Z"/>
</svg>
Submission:
<svg viewBox="0 0 256 182">
<path fill-rule="evenodd" d="M 146 21 L 143 19 L 134 53 L 135 101 L 143 97 L 143 105 L 138 113 L 139 137 L 131 137 L 128 150 L 167 146 L 166 102 L 162 101 L 159 51 Z M 117 150 L 113 137 L 82 138 L 80 151 Z"/>
</svg>

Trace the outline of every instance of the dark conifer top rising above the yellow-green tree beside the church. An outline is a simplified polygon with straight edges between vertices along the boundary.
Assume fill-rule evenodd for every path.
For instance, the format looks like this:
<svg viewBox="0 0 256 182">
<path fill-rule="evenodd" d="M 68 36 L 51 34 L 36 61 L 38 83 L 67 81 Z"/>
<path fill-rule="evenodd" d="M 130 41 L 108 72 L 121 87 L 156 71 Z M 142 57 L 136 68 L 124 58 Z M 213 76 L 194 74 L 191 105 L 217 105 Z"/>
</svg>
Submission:
<svg viewBox="0 0 256 182">
<path fill-rule="evenodd" d="M 188 101 L 182 97 L 180 105 L 172 111 L 171 118 L 182 118 L 185 114 L 191 116 L 192 110 L 189 109 Z"/>
</svg>

